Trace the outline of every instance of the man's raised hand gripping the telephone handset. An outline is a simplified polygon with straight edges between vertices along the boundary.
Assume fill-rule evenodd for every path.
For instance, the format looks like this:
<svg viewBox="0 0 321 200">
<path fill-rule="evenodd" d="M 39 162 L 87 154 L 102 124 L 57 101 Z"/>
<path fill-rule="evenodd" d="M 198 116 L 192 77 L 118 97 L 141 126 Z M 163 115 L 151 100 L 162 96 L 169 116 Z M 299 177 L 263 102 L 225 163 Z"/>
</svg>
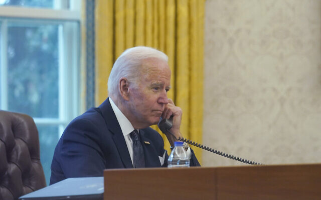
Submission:
<svg viewBox="0 0 321 200">
<path fill-rule="evenodd" d="M 170 131 L 178 138 L 179 136 L 181 137 L 182 134 L 180 132 L 180 126 L 181 126 L 181 121 L 182 121 L 182 109 L 178 106 L 176 106 L 173 102 L 172 99 L 169 99 L 169 103 L 166 105 L 162 118 L 167 118 L 169 119 L 171 116 L 173 116 L 173 126 L 170 129 Z M 168 132 L 165 132 L 167 139 L 171 143 L 172 146 L 174 146 L 174 142 L 178 141 L 175 139 L 175 137 Z"/>
</svg>

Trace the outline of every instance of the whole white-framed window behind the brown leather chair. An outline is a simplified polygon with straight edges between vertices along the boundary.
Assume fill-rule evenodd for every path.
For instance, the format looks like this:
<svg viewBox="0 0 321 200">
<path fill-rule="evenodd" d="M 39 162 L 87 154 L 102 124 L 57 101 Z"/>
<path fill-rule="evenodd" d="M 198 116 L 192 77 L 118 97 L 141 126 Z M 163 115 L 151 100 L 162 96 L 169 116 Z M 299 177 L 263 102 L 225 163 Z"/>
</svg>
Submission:
<svg viewBox="0 0 321 200">
<path fill-rule="evenodd" d="M 34 118 L 47 184 L 58 139 L 79 114 L 80 5 L 74 3 L 0 0 L 0 109 Z"/>
</svg>

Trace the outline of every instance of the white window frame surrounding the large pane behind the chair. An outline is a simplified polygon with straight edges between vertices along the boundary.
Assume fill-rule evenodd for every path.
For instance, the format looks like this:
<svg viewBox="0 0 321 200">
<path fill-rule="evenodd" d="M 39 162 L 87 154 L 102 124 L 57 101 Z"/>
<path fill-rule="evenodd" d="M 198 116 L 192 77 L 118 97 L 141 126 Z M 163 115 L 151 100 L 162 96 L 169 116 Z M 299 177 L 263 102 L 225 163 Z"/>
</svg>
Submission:
<svg viewBox="0 0 321 200">
<path fill-rule="evenodd" d="M 54 9 L 0 6 L 0 109 L 8 110 L 8 22 L 15 20 L 28 22 L 30 19 L 34 23 L 33 19 L 38 19 L 48 21 L 48 24 L 60 24 L 58 30 L 59 118 L 34 117 L 37 125 L 58 125 L 59 137 L 66 125 L 79 114 L 80 110 L 80 84 L 78 82 L 82 1 L 70 0 L 69 9 L 65 9 L 66 2 L 66 0 L 55 0 Z M 58 9 L 60 7 L 62 9 Z M 78 24 L 70 23 L 70 21 L 78 21 Z M 76 49 L 76 51 L 71 49 Z"/>
</svg>

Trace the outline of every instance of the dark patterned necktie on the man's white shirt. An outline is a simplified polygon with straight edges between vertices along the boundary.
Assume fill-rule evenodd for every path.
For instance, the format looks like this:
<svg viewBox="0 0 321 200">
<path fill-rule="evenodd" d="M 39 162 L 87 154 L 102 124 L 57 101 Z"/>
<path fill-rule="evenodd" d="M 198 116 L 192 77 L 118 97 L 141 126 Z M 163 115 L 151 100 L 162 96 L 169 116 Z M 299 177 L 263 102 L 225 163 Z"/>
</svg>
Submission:
<svg viewBox="0 0 321 200">
<path fill-rule="evenodd" d="M 142 145 L 140 143 L 139 133 L 137 130 L 133 130 L 129 135 L 132 139 L 134 168 L 145 167 L 144 150 L 142 149 Z"/>
</svg>

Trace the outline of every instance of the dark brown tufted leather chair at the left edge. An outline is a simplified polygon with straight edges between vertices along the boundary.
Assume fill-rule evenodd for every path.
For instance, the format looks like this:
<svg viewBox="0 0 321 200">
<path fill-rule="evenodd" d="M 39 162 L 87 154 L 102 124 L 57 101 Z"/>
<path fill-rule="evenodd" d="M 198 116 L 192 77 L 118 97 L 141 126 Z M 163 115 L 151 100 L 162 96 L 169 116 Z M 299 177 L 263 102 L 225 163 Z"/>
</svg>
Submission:
<svg viewBox="0 0 321 200">
<path fill-rule="evenodd" d="M 45 186 L 33 118 L 0 110 L 0 200 L 18 199 Z"/>
</svg>

